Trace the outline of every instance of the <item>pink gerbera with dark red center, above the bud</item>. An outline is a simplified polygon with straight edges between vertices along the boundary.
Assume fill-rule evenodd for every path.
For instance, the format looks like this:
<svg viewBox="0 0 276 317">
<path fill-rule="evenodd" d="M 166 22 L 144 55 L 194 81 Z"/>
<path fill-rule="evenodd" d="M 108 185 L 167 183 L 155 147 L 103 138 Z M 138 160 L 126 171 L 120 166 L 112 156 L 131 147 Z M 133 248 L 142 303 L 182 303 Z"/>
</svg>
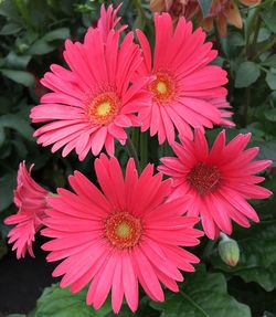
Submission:
<svg viewBox="0 0 276 317">
<path fill-rule="evenodd" d="M 172 198 L 191 194 L 188 215 L 201 215 L 210 239 L 220 231 L 232 233 L 231 220 L 250 226 L 250 220 L 258 222 L 255 210 L 247 199 L 268 198 L 272 192 L 257 186 L 264 177 L 254 176 L 267 168 L 270 160 L 252 161 L 258 148 L 245 149 L 251 134 L 237 135 L 225 145 L 225 131 L 220 133 L 209 151 L 204 134 L 195 130 L 194 140 L 181 138 L 172 146 L 177 158 L 162 158 L 159 170 L 172 176 Z"/>
</svg>

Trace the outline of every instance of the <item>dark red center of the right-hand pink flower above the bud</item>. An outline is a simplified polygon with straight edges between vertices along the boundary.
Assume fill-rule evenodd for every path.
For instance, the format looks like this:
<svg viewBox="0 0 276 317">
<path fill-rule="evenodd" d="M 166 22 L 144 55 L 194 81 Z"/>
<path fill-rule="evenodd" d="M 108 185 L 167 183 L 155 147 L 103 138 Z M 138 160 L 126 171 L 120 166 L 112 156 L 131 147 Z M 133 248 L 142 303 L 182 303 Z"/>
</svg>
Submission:
<svg viewBox="0 0 276 317">
<path fill-rule="evenodd" d="M 215 190 L 220 183 L 221 173 L 215 166 L 198 163 L 187 176 L 187 180 L 201 196 Z"/>
</svg>

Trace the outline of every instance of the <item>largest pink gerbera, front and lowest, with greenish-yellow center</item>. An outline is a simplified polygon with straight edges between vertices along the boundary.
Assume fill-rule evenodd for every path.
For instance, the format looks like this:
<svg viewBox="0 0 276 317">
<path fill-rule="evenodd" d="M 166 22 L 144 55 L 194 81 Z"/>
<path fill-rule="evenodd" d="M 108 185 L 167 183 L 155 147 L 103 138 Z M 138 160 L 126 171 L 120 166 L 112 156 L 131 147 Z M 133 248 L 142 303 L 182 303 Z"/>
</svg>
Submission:
<svg viewBox="0 0 276 317">
<path fill-rule="evenodd" d="M 116 158 L 102 155 L 95 161 L 102 191 L 81 172 L 70 177 L 75 193 L 59 189 L 49 198 L 45 236 L 54 240 L 42 249 L 47 261 L 64 260 L 53 276 L 64 275 L 61 287 L 73 293 L 89 283 L 86 303 L 98 309 L 112 289 L 118 313 L 125 296 L 130 309 L 138 306 L 138 282 L 153 300 L 163 300 L 160 283 L 178 292 L 179 270 L 192 272 L 199 258 L 180 246 L 199 243 L 202 232 L 193 229 L 198 218 L 187 218 L 189 198 L 166 202 L 171 181 L 153 173 L 148 165 L 138 178 L 134 160 L 126 176 Z"/>
</svg>

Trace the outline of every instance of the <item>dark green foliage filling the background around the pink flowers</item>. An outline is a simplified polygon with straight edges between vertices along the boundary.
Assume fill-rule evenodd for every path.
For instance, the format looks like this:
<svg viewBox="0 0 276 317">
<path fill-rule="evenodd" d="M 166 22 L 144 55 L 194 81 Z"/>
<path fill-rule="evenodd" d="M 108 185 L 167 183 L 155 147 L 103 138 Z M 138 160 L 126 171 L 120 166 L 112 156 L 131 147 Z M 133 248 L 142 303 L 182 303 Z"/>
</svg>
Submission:
<svg viewBox="0 0 276 317">
<path fill-rule="evenodd" d="M 34 179 L 52 191 L 56 187 L 66 187 L 67 176 L 74 169 L 94 178 L 92 155 L 84 162 L 78 162 L 75 154 L 64 159 L 60 152 L 53 156 L 50 148 L 38 146 L 32 138 L 34 128 L 30 124 L 29 113 L 45 93 L 40 78 L 52 63 L 64 64 L 64 40 L 71 38 L 82 41 L 86 29 L 95 25 L 102 2 L 113 2 L 116 6 L 119 3 L 96 0 L 0 1 L 1 220 L 15 212 L 12 191 L 18 166 L 22 160 L 26 160 L 28 165 L 35 163 Z M 206 6 L 204 1 L 200 2 L 201 6 Z M 208 10 L 208 6 L 203 9 Z M 261 6 L 240 6 L 240 9 L 244 20 L 242 30 L 229 27 L 226 38 L 220 39 L 215 32 L 211 32 L 208 39 L 214 42 L 220 52 L 216 63 L 229 72 L 229 101 L 235 114 L 236 128 L 227 131 L 227 139 L 238 133 L 252 133 L 252 146 L 261 147 L 259 158 L 274 160 L 273 168 L 265 175 L 267 180 L 264 186 L 275 191 L 276 3 L 275 0 L 263 0 Z M 124 1 L 120 14 L 130 28 L 144 29 L 152 42 L 152 15 L 147 1 Z M 212 141 L 220 130 L 216 128 L 208 131 L 209 140 Z M 148 160 L 158 163 L 159 157 L 171 155 L 169 146 L 158 146 L 155 138 L 140 137 L 137 131 L 132 138 L 137 148 L 142 149 L 145 145 L 148 148 L 148 154 L 141 152 L 144 163 Z M 119 145 L 116 156 L 124 166 L 128 155 Z M 272 304 L 272 298 L 276 298 L 276 202 L 273 197 L 267 201 L 252 203 L 257 209 L 262 223 L 254 224 L 251 229 L 235 229 L 233 237 L 241 247 L 241 261 L 236 267 L 222 263 L 215 244 L 204 256 L 205 266 L 198 266 L 197 273 L 188 276 L 181 286 L 183 292 L 168 295 L 168 300 L 162 305 L 149 305 L 149 300 L 142 298 L 140 310 L 135 316 L 275 317 L 276 305 Z M 0 224 L 2 239 L 8 230 L 9 228 Z M 206 239 L 202 239 L 202 244 L 194 249 L 194 253 L 201 256 L 208 243 Z M 1 250 L 6 250 L 2 244 Z M 254 294 L 259 294 L 262 304 L 256 305 L 252 300 Z M 84 294 L 74 296 L 66 289 L 60 290 L 53 286 L 43 293 L 38 302 L 36 313 L 30 316 L 57 316 L 53 315 L 56 311 L 63 314 L 59 316 L 71 316 L 66 311 L 79 298 L 82 303 L 78 303 L 81 306 L 77 306 L 77 316 L 114 316 L 106 307 L 98 313 L 87 308 Z M 134 315 L 125 307 L 119 316 Z"/>
</svg>

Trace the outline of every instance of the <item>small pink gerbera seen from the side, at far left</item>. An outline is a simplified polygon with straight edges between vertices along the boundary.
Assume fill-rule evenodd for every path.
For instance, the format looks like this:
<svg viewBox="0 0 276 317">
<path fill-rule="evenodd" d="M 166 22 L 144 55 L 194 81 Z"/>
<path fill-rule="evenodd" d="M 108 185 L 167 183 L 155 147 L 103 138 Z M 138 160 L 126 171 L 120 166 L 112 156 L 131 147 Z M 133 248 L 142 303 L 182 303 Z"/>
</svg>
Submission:
<svg viewBox="0 0 276 317">
<path fill-rule="evenodd" d="M 34 256 L 32 243 L 35 233 L 42 228 L 45 218 L 46 196 L 49 192 L 40 187 L 31 177 L 31 170 L 21 162 L 18 171 L 18 187 L 14 190 L 14 203 L 19 209 L 17 214 L 6 218 L 6 224 L 17 224 L 8 234 L 9 243 L 13 243 L 17 257 L 24 257 L 26 251 Z"/>
</svg>

